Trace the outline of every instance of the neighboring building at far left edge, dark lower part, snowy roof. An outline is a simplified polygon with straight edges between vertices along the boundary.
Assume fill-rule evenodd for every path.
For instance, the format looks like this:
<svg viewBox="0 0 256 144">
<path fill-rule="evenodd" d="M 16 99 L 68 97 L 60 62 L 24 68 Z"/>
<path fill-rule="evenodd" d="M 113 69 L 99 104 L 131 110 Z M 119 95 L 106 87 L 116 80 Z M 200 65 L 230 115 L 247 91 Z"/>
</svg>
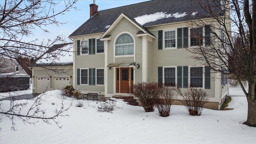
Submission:
<svg viewBox="0 0 256 144">
<path fill-rule="evenodd" d="M 0 56 L 0 92 L 28 89 L 29 78 L 16 60 Z"/>
</svg>

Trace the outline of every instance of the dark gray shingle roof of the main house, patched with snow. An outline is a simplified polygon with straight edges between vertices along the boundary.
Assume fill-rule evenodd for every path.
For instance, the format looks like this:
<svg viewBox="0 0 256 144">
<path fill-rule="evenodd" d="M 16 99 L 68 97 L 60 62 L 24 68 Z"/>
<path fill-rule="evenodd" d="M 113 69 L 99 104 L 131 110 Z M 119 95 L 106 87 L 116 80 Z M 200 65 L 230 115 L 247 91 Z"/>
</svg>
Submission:
<svg viewBox="0 0 256 144">
<path fill-rule="evenodd" d="M 210 2 L 210 0 L 204 0 L 203 2 Z M 213 4 L 213 2 L 210 3 L 212 3 L 211 8 L 214 9 L 213 11 L 216 12 L 216 14 L 220 14 L 220 8 L 216 6 L 216 4 Z M 182 14 L 186 12 L 187 15 L 180 18 L 162 18 L 154 22 L 148 22 L 144 24 L 143 27 L 185 20 L 194 20 L 198 19 L 198 16 L 200 16 L 200 18 L 211 17 L 210 14 L 202 9 L 195 0 L 151 0 L 148 2 L 141 2 L 138 4 L 98 11 L 96 15 L 87 20 L 84 24 L 82 24 L 82 26 L 70 34 L 70 37 L 106 32 L 106 30 L 108 30 L 106 26 L 112 25 L 116 18 L 118 18 L 118 16 L 120 16 L 122 13 L 134 20 L 133 18 L 138 16 L 154 14 L 156 12 L 166 12 L 166 14 L 175 14 L 177 12 Z M 192 12 L 198 13 L 196 16 L 191 16 Z"/>
</svg>

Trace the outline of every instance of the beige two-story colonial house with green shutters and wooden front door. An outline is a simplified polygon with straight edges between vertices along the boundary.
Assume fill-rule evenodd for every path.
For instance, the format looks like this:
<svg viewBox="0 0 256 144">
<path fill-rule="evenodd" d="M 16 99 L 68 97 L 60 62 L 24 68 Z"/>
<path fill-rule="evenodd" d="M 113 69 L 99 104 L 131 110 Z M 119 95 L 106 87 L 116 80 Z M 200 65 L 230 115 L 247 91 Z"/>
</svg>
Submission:
<svg viewBox="0 0 256 144">
<path fill-rule="evenodd" d="M 76 50 L 73 86 L 82 94 L 94 92 L 105 98 L 130 96 L 137 82 L 177 84 L 182 90 L 194 86 L 207 92 L 208 108 L 220 109 L 228 93 L 227 80 L 192 59 L 187 50 L 198 44 L 210 46 L 205 38 L 211 38 L 214 21 L 191 27 L 198 16 L 210 20 L 193 0 L 151 0 L 101 11 L 94 1 L 90 19 L 69 36 Z"/>
</svg>

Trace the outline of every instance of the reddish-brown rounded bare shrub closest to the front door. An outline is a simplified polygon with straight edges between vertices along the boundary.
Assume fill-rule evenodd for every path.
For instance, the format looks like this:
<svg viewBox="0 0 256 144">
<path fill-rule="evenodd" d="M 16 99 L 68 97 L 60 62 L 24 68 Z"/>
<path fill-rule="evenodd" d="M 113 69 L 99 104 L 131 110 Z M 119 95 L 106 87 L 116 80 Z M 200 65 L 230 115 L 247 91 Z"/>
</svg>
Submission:
<svg viewBox="0 0 256 144">
<path fill-rule="evenodd" d="M 158 97 L 159 89 L 157 82 L 141 82 L 134 84 L 133 94 L 138 98 L 145 112 L 154 111 L 154 99 Z"/>
</svg>

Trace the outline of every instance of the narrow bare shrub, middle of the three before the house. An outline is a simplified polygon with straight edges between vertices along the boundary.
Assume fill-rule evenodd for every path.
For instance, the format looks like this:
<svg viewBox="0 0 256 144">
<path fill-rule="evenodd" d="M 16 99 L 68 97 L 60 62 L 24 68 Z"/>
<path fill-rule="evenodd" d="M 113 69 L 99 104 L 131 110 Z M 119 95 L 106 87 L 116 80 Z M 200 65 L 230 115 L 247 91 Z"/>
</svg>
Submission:
<svg viewBox="0 0 256 144">
<path fill-rule="evenodd" d="M 166 117 L 170 115 L 172 102 L 174 99 L 174 88 L 164 86 L 159 88 L 159 95 L 155 100 L 155 106 L 158 109 L 159 115 Z"/>
</svg>

